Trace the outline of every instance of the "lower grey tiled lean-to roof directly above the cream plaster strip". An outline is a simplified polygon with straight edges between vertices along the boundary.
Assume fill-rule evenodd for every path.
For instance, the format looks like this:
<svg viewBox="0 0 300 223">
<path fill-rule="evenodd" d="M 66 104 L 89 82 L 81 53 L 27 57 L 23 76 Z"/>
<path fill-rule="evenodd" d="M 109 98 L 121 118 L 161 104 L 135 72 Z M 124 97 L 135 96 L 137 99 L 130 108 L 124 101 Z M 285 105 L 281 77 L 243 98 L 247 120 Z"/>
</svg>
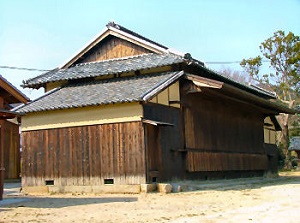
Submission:
<svg viewBox="0 0 300 223">
<path fill-rule="evenodd" d="M 155 89 L 161 90 L 161 86 L 166 85 L 166 82 L 175 81 L 174 78 L 179 78 L 183 74 L 183 72 L 165 72 L 70 84 L 55 89 L 15 111 L 29 113 L 143 101 L 146 95 L 149 99 L 149 93 L 158 93 Z"/>
</svg>

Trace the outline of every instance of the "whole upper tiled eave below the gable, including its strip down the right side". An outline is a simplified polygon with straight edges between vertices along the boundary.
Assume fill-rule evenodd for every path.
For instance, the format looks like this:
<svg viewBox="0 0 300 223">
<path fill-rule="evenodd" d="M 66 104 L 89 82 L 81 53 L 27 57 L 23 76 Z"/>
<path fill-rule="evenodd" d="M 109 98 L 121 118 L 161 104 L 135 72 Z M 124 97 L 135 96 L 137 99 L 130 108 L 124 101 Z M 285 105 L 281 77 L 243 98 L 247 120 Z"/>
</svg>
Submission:
<svg viewBox="0 0 300 223">
<path fill-rule="evenodd" d="M 188 59 L 172 53 L 142 54 L 137 56 L 104 60 L 99 62 L 82 63 L 67 69 L 57 68 L 25 81 L 23 86 L 39 88 L 44 84 L 50 82 L 93 78 L 109 74 L 119 74 L 143 69 L 151 69 L 179 63 L 193 64 L 198 67 L 201 67 L 201 69 L 206 70 L 208 72 L 208 78 L 229 82 L 230 84 L 238 88 L 244 89 L 264 98 L 275 98 L 275 95 L 269 92 L 263 91 L 257 87 L 236 82 L 235 80 L 229 77 L 225 77 L 216 71 L 210 70 L 209 68 L 202 66 L 201 62 L 194 60 L 193 58 Z"/>
</svg>

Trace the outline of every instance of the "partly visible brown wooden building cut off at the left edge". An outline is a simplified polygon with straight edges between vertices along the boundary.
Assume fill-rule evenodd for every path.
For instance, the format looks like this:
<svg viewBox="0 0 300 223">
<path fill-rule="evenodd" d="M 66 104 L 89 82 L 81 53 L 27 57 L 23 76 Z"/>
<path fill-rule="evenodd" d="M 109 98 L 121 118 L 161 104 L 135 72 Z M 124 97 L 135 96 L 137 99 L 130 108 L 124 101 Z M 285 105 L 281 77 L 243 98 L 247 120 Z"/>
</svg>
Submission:
<svg viewBox="0 0 300 223">
<path fill-rule="evenodd" d="M 20 178 L 19 125 L 11 104 L 27 103 L 28 98 L 0 75 L 0 199 L 4 179 Z"/>
</svg>

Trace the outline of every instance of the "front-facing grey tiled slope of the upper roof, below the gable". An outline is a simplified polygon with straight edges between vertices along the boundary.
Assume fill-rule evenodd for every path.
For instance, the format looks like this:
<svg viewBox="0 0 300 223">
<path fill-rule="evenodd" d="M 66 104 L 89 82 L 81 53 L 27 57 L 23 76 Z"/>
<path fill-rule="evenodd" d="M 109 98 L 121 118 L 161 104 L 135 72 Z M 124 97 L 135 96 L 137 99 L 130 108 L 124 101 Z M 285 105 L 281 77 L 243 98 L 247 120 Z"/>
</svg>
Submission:
<svg viewBox="0 0 300 223">
<path fill-rule="evenodd" d="M 24 81 L 23 87 L 39 88 L 45 83 L 105 76 L 181 63 L 185 59 L 175 54 L 142 54 L 138 56 L 78 64 L 68 69 L 54 69 Z"/>
</svg>

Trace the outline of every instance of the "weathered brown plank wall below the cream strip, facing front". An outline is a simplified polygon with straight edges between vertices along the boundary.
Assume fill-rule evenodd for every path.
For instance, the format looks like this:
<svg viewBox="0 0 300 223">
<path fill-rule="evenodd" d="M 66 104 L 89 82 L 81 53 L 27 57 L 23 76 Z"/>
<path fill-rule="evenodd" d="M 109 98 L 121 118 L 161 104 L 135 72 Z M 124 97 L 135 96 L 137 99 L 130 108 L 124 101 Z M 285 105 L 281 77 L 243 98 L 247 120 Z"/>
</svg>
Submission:
<svg viewBox="0 0 300 223">
<path fill-rule="evenodd" d="M 145 183 L 141 122 L 23 132 L 23 186 Z"/>
</svg>

